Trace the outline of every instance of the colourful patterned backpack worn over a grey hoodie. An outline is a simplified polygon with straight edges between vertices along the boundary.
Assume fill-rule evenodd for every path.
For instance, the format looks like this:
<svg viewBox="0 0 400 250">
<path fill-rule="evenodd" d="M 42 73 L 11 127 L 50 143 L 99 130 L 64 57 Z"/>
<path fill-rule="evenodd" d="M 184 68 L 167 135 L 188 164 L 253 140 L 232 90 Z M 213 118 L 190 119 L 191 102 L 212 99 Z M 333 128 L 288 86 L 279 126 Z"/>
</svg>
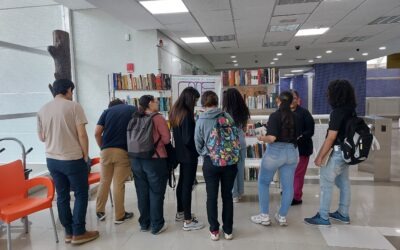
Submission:
<svg viewBox="0 0 400 250">
<path fill-rule="evenodd" d="M 209 156 L 214 166 L 225 167 L 238 163 L 240 141 L 234 121 L 226 113 L 220 114 L 207 141 Z"/>
</svg>

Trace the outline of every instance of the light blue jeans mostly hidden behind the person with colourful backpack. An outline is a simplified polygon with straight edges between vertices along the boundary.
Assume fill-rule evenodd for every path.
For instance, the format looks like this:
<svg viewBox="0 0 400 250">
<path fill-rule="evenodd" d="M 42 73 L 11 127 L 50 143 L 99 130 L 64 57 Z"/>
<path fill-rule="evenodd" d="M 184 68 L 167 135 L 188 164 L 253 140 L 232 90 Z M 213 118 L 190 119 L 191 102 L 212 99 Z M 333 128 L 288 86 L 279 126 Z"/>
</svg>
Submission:
<svg viewBox="0 0 400 250">
<path fill-rule="evenodd" d="M 239 140 L 240 140 L 240 161 L 237 163 L 238 172 L 235 178 L 232 189 L 232 197 L 236 198 L 244 193 L 244 165 L 246 160 L 246 137 L 243 130 L 239 130 Z"/>
</svg>

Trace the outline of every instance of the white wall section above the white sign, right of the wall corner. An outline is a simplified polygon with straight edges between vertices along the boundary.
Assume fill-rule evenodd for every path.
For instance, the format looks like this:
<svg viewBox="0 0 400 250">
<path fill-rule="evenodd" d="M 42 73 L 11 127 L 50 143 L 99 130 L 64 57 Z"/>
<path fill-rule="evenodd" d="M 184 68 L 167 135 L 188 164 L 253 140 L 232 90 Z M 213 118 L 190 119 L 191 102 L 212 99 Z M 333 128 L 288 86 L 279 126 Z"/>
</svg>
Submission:
<svg viewBox="0 0 400 250">
<path fill-rule="evenodd" d="M 214 66 L 203 56 L 193 55 L 180 47 L 161 32 L 157 32 L 158 40 L 163 40 L 164 46 L 158 50 L 161 72 L 173 75 L 191 75 L 192 68 L 199 69 L 198 74 L 212 74 Z"/>
</svg>

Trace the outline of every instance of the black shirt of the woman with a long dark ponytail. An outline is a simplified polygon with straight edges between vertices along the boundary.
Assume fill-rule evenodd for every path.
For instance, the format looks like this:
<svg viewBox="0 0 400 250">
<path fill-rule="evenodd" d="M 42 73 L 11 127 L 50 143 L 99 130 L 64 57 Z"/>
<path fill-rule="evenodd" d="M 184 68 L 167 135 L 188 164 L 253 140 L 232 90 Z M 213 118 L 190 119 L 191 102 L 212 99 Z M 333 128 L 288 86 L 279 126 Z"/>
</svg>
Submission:
<svg viewBox="0 0 400 250">
<path fill-rule="evenodd" d="M 275 142 L 287 142 L 297 144 L 296 140 L 299 136 L 299 119 L 294 112 L 291 112 L 294 118 L 294 133 L 291 135 L 284 135 L 282 131 L 282 112 L 278 109 L 269 116 L 267 123 L 267 135 L 273 135 L 276 137 Z"/>
</svg>

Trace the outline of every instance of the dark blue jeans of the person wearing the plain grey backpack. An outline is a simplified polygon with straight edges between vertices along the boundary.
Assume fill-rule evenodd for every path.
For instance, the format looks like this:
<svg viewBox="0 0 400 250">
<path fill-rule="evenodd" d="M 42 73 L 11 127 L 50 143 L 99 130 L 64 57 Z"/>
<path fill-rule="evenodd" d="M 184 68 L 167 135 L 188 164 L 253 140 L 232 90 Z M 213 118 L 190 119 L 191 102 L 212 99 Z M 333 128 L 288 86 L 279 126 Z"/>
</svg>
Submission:
<svg viewBox="0 0 400 250">
<path fill-rule="evenodd" d="M 164 195 L 167 188 L 168 169 L 166 159 L 132 159 L 136 195 L 142 229 L 151 226 L 153 234 L 164 226 Z"/>
</svg>

